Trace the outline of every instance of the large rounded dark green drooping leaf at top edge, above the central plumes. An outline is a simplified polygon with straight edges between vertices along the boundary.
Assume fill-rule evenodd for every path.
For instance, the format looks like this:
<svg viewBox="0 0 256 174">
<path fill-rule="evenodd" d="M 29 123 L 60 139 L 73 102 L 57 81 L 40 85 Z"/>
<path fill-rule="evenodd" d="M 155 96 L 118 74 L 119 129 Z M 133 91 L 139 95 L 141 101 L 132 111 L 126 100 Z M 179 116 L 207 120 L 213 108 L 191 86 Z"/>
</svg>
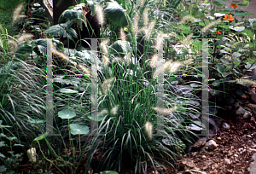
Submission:
<svg viewBox="0 0 256 174">
<path fill-rule="evenodd" d="M 117 26 L 127 26 L 128 22 L 126 20 L 125 16 L 125 9 L 123 9 L 119 3 L 115 1 L 111 1 L 106 3 L 106 6 L 104 7 L 104 12 L 107 14 L 106 17 L 112 21 L 113 25 Z"/>
</svg>

